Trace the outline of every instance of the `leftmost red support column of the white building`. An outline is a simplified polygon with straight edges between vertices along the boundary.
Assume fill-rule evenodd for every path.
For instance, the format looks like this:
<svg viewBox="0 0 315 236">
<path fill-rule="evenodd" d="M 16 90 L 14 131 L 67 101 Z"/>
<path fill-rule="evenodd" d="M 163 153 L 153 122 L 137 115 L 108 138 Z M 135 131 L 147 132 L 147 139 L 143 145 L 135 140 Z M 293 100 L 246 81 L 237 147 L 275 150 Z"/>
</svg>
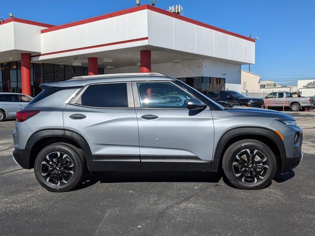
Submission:
<svg viewBox="0 0 315 236">
<path fill-rule="evenodd" d="M 31 54 L 21 53 L 22 93 L 32 96 L 31 89 Z"/>
</svg>

